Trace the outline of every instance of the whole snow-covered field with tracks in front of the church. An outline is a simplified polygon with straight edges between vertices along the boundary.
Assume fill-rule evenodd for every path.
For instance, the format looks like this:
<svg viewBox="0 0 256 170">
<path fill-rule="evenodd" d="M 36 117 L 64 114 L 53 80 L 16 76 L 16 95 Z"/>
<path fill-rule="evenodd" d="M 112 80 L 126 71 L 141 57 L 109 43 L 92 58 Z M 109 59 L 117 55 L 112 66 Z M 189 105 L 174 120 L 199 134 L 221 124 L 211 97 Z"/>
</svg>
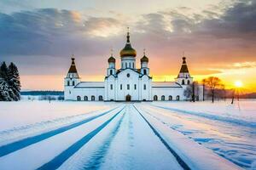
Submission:
<svg viewBox="0 0 256 170">
<path fill-rule="evenodd" d="M 256 169 L 256 100 L 0 102 L 0 169 Z"/>
</svg>

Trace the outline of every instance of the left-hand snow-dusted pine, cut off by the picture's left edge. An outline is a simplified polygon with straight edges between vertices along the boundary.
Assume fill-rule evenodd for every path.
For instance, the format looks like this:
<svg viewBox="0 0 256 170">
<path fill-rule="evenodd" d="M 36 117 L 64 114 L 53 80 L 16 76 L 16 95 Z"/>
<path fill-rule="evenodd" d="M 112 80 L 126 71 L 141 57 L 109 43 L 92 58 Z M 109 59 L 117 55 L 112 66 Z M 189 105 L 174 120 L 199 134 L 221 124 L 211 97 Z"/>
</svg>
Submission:
<svg viewBox="0 0 256 170">
<path fill-rule="evenodd" d="M 9 84 L 8 80 L 8 68 L 5 62 L 0 67 L 0 100 L 11 101 L 12 98 L 9 96 Z"/>
</svg>

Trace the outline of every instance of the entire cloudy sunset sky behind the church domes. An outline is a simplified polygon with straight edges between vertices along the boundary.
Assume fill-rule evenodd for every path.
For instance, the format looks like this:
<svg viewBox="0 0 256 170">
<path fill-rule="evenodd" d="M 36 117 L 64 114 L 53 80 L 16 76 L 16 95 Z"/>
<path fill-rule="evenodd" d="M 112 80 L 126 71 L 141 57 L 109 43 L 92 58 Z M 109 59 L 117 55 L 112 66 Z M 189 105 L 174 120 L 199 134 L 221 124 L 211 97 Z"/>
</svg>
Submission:
<svg viewBox="0 0 256 170">
<path fill-rule="evenodd" d="M 15 62 L 24 90 L 62 90 L 72 54 L 83 81 L 103 81 L 127 26 L 154 81 L 173 81 L 184 51 L 195 80 L 256 91 L 255 0 L 1 0 L 0 62 Z"/>
</svg>

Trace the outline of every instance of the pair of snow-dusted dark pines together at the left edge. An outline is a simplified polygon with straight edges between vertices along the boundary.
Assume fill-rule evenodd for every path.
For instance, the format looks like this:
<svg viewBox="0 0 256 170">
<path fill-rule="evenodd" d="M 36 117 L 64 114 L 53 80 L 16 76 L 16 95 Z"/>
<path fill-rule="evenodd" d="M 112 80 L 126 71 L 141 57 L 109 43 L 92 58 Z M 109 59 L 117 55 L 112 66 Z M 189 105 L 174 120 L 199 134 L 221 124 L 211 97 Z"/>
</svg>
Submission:
<svg viewBox="0 0 256 170">
<path fill-rule="evenodd" d="M 0 101 L 20 100 L 20 74 L 17 66 L 3 62 L 0 66 Z"/>
</svg>

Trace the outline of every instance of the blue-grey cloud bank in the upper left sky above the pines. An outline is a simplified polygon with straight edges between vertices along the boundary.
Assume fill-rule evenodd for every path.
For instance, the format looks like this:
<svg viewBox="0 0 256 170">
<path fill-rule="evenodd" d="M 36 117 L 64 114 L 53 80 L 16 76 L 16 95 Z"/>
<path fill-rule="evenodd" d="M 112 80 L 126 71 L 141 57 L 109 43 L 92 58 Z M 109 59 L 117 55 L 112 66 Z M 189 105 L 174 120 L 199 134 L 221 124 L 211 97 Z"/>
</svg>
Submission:
<svg viewBox="0 0 256 170">
<path fill-rule="evenodd" d="M 63 55 L 79 50 L 92 54 L 90 31 L 118 22 L 109 18 L 89 17 L 55 8 L 0 14 L 0 54 L 3 55 Z"/>
</svg>

